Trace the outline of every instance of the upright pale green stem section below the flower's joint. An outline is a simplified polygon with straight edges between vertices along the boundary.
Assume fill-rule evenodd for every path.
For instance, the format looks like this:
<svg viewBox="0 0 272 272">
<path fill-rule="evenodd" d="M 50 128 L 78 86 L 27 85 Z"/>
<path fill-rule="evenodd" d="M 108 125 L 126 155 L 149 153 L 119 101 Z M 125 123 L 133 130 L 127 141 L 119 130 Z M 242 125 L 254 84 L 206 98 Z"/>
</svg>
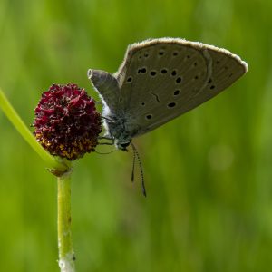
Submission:
<svg viewBox="0 0 272 272">
<path fill-rule="evenodd" d="M 74 272 L 71 231 L 71 172 L 58 178 L 58 247 L 61 272 Z"/>
</svg>

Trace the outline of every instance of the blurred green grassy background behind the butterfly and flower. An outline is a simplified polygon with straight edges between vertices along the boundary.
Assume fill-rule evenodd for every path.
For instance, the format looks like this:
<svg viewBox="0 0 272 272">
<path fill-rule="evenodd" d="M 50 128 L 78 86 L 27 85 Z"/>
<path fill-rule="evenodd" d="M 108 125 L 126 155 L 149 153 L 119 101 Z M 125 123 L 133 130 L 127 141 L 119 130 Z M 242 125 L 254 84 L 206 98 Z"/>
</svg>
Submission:
<svg viewBox="0 0 272 272">
<path fill-rule="evenodd" d="M 26 124 L 52 83 L 94 95 L 127 44 L 173 36 L 228 48 L 248 73 L 215 99 L 74 165 L 77 271 L 271 271 L 270 0 L 0 1 L 0 86 Z M 0 111 L 0 271 L 58 271 L 56 180 Z M 111 149 L 107 149 L 108 151 Z M 103 149 L 105 151 L 105 149 Z"/>
</svg>

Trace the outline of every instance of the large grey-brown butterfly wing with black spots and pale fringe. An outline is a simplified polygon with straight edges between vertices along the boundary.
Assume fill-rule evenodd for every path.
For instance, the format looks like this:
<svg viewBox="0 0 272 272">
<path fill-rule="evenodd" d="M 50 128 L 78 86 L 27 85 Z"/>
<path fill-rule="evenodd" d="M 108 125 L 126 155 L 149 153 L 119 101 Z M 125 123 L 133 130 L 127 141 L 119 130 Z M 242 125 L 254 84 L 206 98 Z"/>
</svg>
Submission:
<svg viewBox="0 0 272 272">
<path fill-rule="evenodd" d="M 161 38 L 131 44 L 116 78 L 132 137 L 151 131 L 222 92 L 247 63 L 225 49 Z"/>
</svg>

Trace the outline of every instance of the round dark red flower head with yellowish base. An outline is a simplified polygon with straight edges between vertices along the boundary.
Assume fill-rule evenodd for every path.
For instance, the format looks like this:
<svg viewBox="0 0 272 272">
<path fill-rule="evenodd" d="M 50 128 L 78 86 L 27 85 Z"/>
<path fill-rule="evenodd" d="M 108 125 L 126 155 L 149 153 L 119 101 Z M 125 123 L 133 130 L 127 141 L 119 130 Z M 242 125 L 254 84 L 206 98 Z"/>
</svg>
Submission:
<svg viewBox="0 0 272 272">
<path fill-rule="evenodd" d="M 76 160 L 94 151 L 101 116 L 84 89 L 73 83 L 53 84 L 34 113 L 34 135 L 52 155 Z"/>
</svg>

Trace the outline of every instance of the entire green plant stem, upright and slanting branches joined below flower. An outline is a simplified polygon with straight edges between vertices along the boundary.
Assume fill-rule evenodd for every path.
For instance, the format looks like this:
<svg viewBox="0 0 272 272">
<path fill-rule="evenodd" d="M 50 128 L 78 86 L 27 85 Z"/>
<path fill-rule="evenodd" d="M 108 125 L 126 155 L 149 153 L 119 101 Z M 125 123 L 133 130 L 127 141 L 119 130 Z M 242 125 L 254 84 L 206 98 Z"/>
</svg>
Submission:
<svg viewBox="0 0 272 272">
<path fill-rule="evenodd" d="M 58 247 L 59 267 L 61 272 L 74 272 L 74 257 L 71 236 L 71 172 L 72 164 L 68 160 L 53 157 L 36 141 L 34 135 L 26 127 L 24 121 L 15 112 L 11 103 L 0 89 L 0 108 L 6 117 L 14 124 L 15 129 L 23 136 L 30 146 L 51 168 L 54 175 L 58 176 Z"/>
</svg>

